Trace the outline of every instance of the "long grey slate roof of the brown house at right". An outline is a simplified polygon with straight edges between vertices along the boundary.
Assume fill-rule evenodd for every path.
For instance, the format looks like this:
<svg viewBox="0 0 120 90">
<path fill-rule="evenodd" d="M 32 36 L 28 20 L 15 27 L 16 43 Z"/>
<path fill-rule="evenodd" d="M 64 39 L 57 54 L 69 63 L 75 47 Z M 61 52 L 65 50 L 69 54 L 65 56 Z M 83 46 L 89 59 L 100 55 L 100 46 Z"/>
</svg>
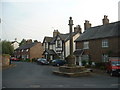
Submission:
<svg viewBox="0 0 120 90">
<path fill-rule="evenodd" d="M 75 42 L 120 36 L 119 27 L 120 21 L 88 28 L 83 34 L 81 34 L 80 37 L 75 40 Z"/>
</svg>

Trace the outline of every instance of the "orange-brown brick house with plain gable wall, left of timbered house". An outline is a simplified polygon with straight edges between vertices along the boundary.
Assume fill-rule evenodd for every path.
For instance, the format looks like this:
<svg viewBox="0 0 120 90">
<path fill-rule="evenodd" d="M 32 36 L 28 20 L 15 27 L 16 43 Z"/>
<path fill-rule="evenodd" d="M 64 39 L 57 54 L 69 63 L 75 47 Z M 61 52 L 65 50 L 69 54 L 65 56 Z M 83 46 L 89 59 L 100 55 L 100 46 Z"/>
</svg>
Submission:
<svg viewBox="0 0 120 90">
<path fill-rule="evenodd" d="M 28 40 L 25 45 L 18 47 L 14 56 L 22 59 L 33 59 L 33 58 L 42 58 L 43 55 L 43 46 L 41 42 L 32 42 L 32 40 Z"/>
</svg>

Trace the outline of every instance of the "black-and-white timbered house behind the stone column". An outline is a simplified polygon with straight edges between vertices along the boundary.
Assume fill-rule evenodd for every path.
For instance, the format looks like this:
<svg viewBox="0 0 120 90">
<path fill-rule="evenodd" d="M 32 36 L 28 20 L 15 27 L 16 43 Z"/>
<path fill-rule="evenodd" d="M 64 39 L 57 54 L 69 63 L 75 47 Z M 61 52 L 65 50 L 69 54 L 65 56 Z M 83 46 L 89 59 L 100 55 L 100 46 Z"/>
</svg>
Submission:
<svg viewBox="0 0 120 90">
<path fill-rule="evenodd" d="M 78 38 L 81 34 L 80 26 L 76 26 L 74 28 L 74 32 L 72 33 L 74 50 L 75 50 L 75 42 L 76 38 Z M 53 37 L 45 37 L 43 40 L 44 46 L 44 55 L 47 60 L 53 59 L 65 59 L 69 54 L 69 33 L 61 34 L 58 30 L 54 30 Z"/>
</svg>

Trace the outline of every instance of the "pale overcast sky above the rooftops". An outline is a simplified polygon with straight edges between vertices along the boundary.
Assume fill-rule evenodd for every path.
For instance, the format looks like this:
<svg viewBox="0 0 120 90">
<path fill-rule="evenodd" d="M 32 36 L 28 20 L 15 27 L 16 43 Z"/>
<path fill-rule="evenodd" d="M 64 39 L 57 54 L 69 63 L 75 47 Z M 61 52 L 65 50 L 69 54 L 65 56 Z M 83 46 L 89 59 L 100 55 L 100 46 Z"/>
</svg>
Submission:
<svg viewBox="0 0 120 90">
<path fill-rule="evenodd" d="M 18 42 L 24 39 L 43 41 L 54 29 L 68 33 L 71 16 L 75 27 L 89 20 L 92 27 L 102 25 L 104 15 L 118 21 L 120 0 L 2 0 L 0 3 L 0 38 Z M 120 4 L 119 4 L 120 5 Z M 120 20 L 120 19 L 119 19 Z"/>
</svg>

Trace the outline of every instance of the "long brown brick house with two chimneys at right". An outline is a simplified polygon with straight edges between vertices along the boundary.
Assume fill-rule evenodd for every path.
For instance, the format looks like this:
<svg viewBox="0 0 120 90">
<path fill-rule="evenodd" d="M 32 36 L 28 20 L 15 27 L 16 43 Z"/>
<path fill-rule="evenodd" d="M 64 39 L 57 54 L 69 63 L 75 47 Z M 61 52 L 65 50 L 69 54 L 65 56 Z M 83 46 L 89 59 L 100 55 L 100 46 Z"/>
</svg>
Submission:
<svg viewBox="0 0 120 90">
<path fill-rule="evenodd" d="M 75 40 L 76 62 L 82 60 L 107 62 L 109 57 L 120 57 L 120 21 L 109 23 L 104 16 L 103 25 L 91 27 L 89 21 L 84 23 L 85 31 Z"/>
</svg>

